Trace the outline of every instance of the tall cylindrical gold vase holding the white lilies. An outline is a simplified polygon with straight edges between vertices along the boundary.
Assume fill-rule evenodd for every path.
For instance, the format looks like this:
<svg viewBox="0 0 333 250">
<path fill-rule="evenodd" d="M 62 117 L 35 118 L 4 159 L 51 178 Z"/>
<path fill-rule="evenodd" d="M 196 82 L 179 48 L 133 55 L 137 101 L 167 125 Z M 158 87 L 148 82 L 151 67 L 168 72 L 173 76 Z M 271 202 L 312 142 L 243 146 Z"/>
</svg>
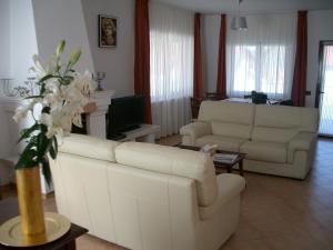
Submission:
<svg viewBox="0 0 333 250">
<path fill-rule="evenodd" d="M 27 243 L 46 241 L 46 220 L 39 167 L 18 169 L 17 187 L 21 232 Z"/>
</svg>

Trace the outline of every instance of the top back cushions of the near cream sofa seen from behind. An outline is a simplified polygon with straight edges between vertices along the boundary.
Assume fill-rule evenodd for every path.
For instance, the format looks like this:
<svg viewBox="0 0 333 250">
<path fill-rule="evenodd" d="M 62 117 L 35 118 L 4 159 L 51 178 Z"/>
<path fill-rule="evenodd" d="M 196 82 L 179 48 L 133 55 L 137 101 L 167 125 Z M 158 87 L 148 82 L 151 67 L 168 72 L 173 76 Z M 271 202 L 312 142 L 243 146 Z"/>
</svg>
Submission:
<svg viewBox="0 0 333 250">
<path fill-rule="evenodd" d="M 65 138 L 59 152 L 194 179 L 199 204 L 203 207 L 212 204 L 218 197 L 214 164 L 201 152 L 151 143 L 120 143 L 81 134 Z"/>
</svg>

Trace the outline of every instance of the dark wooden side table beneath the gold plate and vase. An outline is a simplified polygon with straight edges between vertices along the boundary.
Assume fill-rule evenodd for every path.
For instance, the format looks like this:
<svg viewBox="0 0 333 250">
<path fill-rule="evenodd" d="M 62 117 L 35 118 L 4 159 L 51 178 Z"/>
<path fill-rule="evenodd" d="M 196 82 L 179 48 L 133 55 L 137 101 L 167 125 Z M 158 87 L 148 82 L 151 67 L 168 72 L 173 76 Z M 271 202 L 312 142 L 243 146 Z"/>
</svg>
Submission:
<svg viewBox="0 0 333 250">
<path fill-rule="evenodd" d="M 0 201 L 0 224 L 19 214 L 18 200 L 16 198 L 9 198 Z M 71 223 L 70 230 L 60 239 L 39 247 L 29 248 L 12 248 L 6 247 L 0 243 L 0 250 L 12 250 L 12 249 L 29 249 L 29 250 L 75 250 L 75 239 L 87 233 L 88 230 L 81 228 L 74 223 Z"/>
</svg>

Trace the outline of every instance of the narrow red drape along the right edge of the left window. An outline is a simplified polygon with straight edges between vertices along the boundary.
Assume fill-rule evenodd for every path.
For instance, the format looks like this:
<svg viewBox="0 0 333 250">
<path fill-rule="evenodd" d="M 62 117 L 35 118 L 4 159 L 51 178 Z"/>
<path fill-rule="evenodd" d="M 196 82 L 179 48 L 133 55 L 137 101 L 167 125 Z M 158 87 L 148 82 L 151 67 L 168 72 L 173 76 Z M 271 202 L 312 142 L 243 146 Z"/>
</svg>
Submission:
<svg viewBox="0 0 333 250">
<path fill-rule="evenodd" d="M 194 16 L 194 67 L 193 67 L 193 97 L 203 97 L 202 56 L 201 56 L 201 14 Z"/>
</svg>

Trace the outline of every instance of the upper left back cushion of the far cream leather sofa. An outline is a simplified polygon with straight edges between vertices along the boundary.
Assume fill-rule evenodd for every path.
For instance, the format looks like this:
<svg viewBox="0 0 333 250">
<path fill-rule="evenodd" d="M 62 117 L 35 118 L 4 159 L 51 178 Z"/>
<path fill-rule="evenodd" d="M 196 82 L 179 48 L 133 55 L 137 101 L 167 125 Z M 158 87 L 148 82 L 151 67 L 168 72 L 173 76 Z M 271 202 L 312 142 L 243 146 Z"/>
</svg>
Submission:
<svg viewBox="0 0 333 250">
<path fill-rule="evenodd" d="M 231 101 L 203 101 L 200 106 L 198 120 L 252 126 L 254 107 L 253 104 Z"/>
</svg>

